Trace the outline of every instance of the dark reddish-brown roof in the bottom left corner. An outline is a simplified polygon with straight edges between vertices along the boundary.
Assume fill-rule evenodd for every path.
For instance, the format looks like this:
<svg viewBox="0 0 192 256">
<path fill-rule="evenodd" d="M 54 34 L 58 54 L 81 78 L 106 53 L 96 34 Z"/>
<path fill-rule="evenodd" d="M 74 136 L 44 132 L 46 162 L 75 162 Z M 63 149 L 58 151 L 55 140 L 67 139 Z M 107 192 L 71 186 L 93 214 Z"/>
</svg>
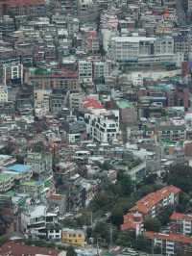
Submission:
<svg viewBox="0 0 192 256">
<path fill-rule="evenodd" d="M 4 243 L 0 247 L 0 255 L 1 256 L 21 256 L 21 255 L 30 255 L 35 256 L 36 254 L 44 254 L 49 256 L 58 256 L 60 251 L 54 248 L 47 248 L 47 247 L 38 247 L 38 246 L 30 246 L 24 245 L 20 242 L 8 242 Z"/>
</svg>

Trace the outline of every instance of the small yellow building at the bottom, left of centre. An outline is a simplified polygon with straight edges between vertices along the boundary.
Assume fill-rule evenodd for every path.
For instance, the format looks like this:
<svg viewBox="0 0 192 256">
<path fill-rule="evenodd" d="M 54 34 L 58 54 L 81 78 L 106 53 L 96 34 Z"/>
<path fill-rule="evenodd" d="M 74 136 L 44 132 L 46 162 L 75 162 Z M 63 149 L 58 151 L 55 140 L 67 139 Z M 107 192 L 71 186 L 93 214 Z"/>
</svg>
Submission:
<svg viewBox="0 0 192 256">
<path fill-rule="evenodd" d="M 72 245 L 84 247 L 84 245 L 85 245 L 84 230 L 63 228 L 62 229 L 62 243 L 70 243 Z"/>
</svg>

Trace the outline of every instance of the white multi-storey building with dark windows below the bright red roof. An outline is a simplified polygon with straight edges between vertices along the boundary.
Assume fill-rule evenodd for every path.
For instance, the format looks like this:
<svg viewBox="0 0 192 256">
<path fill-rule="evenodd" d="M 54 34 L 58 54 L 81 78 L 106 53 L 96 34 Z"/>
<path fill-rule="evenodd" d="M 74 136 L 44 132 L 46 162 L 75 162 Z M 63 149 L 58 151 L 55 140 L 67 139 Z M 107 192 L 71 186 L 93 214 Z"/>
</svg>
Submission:
<svg viewBox="0 0 192 256">
<path fill-rule="evenodd" d="M 95 141 L 112 142 L 119 138 L 119 111 L 94 109 L 85 114 L 86 129 Z"/>
</svg>

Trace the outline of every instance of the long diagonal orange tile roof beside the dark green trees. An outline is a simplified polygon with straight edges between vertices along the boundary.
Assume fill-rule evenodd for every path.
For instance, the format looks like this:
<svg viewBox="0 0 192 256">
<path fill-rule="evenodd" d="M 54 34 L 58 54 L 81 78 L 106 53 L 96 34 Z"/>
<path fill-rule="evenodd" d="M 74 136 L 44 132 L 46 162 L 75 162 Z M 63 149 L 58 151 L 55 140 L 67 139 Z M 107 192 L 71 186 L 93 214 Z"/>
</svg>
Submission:
<svg viewBox="0 0 192 256">
<path fill-rule="evenodd" d="M 167 197 L 170 193 L 179 193 L 180 189 L 175 186 L 167 186 L 159 191 L 151 192 L 136 202 L 135 206 L 130 209 L 130 212 L 139 212 L 147 215 L 153 206 L 155 206 L 163 198 Z"/>
</svg>

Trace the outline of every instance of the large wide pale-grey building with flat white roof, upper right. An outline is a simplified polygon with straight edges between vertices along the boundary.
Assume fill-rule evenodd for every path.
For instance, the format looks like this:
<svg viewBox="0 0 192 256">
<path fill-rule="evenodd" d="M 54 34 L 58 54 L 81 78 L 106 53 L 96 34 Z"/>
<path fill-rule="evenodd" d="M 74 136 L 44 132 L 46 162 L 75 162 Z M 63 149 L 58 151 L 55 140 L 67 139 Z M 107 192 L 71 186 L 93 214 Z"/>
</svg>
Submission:
<svg viewBox="0 0 192 256">
<path fill-rule="evenodd" d="M 108 54 L 116 62 L 138 64 L 176 63 L 174 39 L 115 37 L 110 40 Z"/>
</svg>

